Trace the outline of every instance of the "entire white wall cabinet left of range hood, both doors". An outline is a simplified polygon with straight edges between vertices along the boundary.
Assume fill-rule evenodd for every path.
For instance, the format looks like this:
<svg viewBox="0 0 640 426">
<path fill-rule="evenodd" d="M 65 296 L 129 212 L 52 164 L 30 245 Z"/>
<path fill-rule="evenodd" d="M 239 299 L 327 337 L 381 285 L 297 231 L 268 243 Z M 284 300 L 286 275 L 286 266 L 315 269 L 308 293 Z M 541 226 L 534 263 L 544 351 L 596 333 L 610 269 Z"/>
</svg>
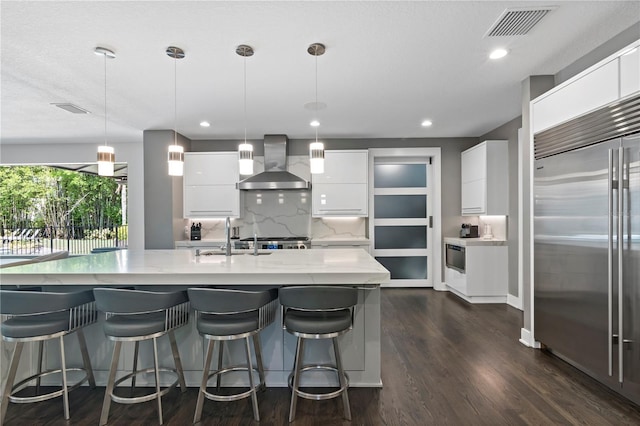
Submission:
<svg viewBox="0 0 640 426">
<path fill-rule="evenodd" d="M 236 152 L 188 152 L 184 155 L 184 217 L 240 217 Z"/>
</svg>

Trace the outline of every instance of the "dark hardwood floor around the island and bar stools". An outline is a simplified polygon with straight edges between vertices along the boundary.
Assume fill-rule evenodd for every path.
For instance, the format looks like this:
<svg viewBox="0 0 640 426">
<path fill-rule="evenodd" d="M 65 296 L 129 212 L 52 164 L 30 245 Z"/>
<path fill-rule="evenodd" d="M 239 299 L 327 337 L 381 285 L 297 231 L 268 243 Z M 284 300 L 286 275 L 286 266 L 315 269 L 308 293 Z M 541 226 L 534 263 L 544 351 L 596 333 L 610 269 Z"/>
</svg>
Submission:
<svg viewBox="0 0 640 426">
<path fill-rule="evenodd" d="M 425 289 L 382 291 L 382 389 L 351 388 L 351 422 L 340 399 L 300 400 L 295 425 L 623 425 L 640 424 L 640 407 L 544 351 L 518 342 L 522 313 L 506 305 L 470 305 Z M 6 425 L 96 425 L 104 388 L 61 400 L 10 404 Z M 262 425 L 287 424 L 289 390 L 259 395 Z M 166 425 L 191 424 L 197 390 L 163 399 Z M 112 404 L 109 424 L 157 424 L 152 402 Z M 248 400 L 205 401 L 206 425 L 247 425 Z"/>
</svg>

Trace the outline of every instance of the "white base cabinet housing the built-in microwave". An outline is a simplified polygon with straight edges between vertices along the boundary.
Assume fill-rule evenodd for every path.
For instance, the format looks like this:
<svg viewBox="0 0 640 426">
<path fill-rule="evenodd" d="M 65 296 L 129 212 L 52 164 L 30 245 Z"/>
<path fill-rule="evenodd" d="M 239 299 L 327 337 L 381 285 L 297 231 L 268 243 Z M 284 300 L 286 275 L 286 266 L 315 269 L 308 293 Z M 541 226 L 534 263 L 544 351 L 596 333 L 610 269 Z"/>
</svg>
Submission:
<svg viewBox="0 0 640 426">
<path fill-rule="evenodd" d="M 445 238 L 445 244 L 465 247 L 465 271 L 445 268 L 449 291 L 470 303 L 507 302 L 508 246 L 504 241 Z"/>
</svg>

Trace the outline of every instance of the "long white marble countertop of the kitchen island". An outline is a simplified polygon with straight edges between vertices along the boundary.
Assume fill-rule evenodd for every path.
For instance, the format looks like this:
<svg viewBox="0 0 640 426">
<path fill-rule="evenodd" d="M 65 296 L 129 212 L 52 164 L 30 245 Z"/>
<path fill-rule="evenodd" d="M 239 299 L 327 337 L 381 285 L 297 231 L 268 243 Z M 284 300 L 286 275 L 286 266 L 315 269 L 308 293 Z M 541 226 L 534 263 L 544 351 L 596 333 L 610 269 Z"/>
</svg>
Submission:
<svg viewBox="0 0 640 426">
<path fill-rule="evenodd" d="M 358 248 L 230 257 L 195 256 L 195 250 L 121 250 L 0 272 L 0 282 L 6 285 L 380 284 L 389 278 L 389 271 Z"/>
</svg>

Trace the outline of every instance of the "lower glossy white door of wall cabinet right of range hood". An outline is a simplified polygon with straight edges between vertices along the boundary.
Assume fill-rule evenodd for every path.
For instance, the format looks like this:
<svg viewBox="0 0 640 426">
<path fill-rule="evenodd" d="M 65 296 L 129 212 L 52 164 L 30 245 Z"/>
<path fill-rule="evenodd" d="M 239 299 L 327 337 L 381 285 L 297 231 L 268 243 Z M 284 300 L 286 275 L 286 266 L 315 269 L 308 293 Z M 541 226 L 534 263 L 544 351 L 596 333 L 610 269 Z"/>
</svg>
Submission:
<svg viewBox="0 0 640 426">
<path fill-rule="evenodd" d="M 313 217 L 367 216 L 366 183 L 319 183 L 313 186 Z"/>
</svg>

